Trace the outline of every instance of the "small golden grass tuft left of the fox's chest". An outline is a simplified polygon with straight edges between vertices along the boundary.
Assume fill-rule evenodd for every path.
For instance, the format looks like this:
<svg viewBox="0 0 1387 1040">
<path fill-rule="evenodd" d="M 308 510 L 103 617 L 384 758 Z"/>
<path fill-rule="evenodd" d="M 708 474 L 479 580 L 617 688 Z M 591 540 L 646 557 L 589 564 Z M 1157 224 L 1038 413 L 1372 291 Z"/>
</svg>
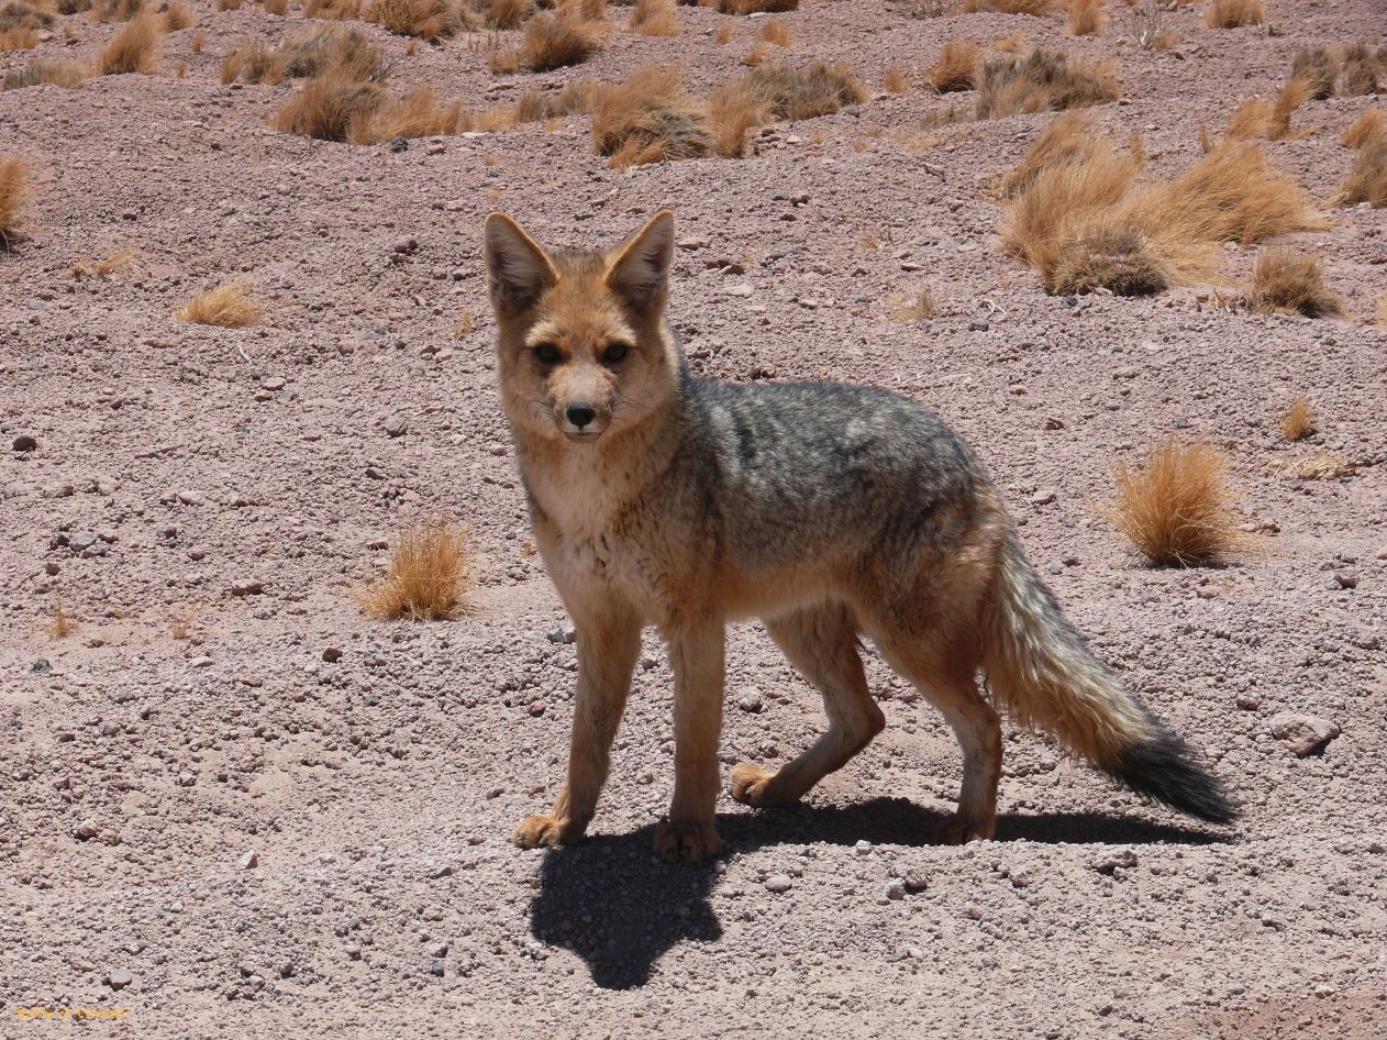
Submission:
<svg viewBox="0 0 1387 1040">
<path fill-rule="evenodd" d="M 368 617 L 379 621 L 447 621 L 472 613 L 477 556 L 469 528 L 444 517 L 408 528 L 390 559 L 388 574 L 356 593 Z"/>
</svg>

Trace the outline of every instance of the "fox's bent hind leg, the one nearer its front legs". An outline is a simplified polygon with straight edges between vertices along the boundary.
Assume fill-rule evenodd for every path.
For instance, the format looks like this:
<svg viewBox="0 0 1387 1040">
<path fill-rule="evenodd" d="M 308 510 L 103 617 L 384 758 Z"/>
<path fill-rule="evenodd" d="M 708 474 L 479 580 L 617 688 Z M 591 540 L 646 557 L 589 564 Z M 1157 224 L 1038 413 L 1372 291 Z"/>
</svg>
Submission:
<svg viewBox="0 0 1387 1040">
<path fill-rule="evenodd" d="M 857 625 L 845 605 L 799 610 L 767 621 L 766 628 L 791 664 L 824 695 L 828 732 L 779 772 L 752 763 L 735 767 L 732 797 L 748 806 L 795 801 L 847 764 L 886 724 L 867 689 L 857 653 Z"/>
</svg>

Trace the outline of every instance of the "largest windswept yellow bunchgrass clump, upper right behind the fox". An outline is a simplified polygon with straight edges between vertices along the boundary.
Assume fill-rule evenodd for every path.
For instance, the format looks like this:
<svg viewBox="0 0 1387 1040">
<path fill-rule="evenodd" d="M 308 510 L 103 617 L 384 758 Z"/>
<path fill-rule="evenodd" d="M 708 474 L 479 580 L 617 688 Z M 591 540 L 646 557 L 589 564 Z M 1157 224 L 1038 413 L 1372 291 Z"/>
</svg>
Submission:
<svg viewBox="0 0 1387 1040">
<path fill-rule="evenodd" d="M 1180 176 L 1137 189 L 1140 154 L 1087 126 L 1053 122 L 1006 186 L 1003 247 L 1051 293 L 1160 293 L 1214 277 L 1223 243 L 1325 226 L 1255 144 L 1221 144 Z"/>
</svg>

